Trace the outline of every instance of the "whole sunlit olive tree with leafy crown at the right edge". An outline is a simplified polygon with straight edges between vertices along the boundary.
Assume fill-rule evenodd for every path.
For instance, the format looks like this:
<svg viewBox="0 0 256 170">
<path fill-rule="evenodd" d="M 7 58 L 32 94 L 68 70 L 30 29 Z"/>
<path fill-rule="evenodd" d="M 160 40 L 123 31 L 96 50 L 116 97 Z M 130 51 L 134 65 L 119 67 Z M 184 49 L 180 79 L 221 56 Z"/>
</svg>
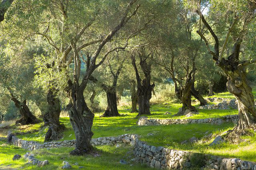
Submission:
<svg viewBox="0 0 256 170">
<path fill-rule="evenodd" d="M 201 4 L 194 6 L 200 18 L 197 33 L 204 40 L 206 48 L 212 55 L 216 65 L 225 72 L 228 79 L 227 89 L 231 94 L 234 94 L 238 101 L 239 121 L 235 130 L 255 129 L 256 110 L 254 108 L 252 88 L 246 78 L 246 67 L 256 63 L 256 60 L 243 59 L 240 51 L 243 48 L 242 42 L 246 33 L 248 33 L 250 24 L 255 22 L 256 2 L 254 0 L 246 0 L 232 3 L 226 0 L 219 2 L 213 0 L 210 3 L 208 15 L 202 14 Z M 205 16 L 209 17 L 214 22 L 214 25 L 207 21 Z M 202 25 L 207 28 L 208 35 L 214 41 L 213 49 L 206 35 L 202 33 Z M 221 39 L 223 34 L 218 32 L 220 27 L 224 27 L 226 30 L 224 39 Z M 222 46 L 220 46 L 220 43 L 222 43 Z M 226 48 L 230 46 L 232 46 L 231 50 L 227 52 L 228 55 L 225 55 Z M 236 131 L 234 132 L 236 133 Z"/>
</svg>

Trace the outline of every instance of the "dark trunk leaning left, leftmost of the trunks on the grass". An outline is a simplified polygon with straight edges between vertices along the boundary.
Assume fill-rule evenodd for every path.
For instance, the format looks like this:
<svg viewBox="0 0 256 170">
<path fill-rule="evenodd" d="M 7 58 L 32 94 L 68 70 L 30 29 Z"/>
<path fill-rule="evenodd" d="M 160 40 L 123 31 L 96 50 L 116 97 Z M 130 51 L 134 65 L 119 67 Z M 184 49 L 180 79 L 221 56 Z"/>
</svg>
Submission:
<svg viewBox="0 0 256 170">
<path fill-rule="evenodd" d="M 28 106 L 26 105 L 26 100 L 20 102 L 14 97 L 12 97 L 11 100 L 14 102 L 21 115 L 21 119 L 17 120 L 16 124 L 20 123 L 21 125 L 29 125 L 39 123 L 39 120 L 31 113 Z"/>
</svg>

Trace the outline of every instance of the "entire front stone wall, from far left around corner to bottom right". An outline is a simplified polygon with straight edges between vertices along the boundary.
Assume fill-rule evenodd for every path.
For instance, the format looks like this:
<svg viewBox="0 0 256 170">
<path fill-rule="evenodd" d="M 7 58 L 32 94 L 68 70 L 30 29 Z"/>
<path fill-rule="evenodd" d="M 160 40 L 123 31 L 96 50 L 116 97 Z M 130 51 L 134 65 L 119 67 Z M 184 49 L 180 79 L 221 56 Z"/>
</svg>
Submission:
<svg viewBox="0 0 256 170">
<path fill-rule="evenodd" d="M 45 147 L 72 147 L 74 140 L 62 142 L 48 142 L 39 144 L 32 141 L 24 141 L 12 136 L 14 145 L 24 149 L 34 150 Z M 138 135 L 121 135 L 118 137 L 100 137 L 92 139 L 92 145 L 114 145 L 127 143 L 133 146 L 136 162 L 147 164 L 152 168 L 190 169 L 194 166 L 210 170 L 256 170 L 256 163 L 243 161 L 238 158 L 220 158 L 208 154 L 187 152 L 182 150 L 154 147 L 138 139 Z"/>
</svg>

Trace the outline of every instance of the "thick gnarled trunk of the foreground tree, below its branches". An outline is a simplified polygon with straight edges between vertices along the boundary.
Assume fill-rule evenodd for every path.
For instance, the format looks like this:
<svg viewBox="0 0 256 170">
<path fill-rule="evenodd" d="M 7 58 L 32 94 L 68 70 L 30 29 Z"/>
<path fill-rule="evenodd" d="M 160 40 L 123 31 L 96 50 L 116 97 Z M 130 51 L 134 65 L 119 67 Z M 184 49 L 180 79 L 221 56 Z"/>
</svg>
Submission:
<svg viewBox="0 0 256 170">
<path fill-rule="evenodd" d="M 69 82 L 72 84 L 72 82 Z M 71 85 L 69 90 L 69 104 L 67 106 L 70 123 L 76 136 L 76 147 L 70 152 L 72 155 L 83 155 L 93 150 L 92 123 L 94 114 L 87 107 L 83 90 L 78 85 Z"/>
</svg>

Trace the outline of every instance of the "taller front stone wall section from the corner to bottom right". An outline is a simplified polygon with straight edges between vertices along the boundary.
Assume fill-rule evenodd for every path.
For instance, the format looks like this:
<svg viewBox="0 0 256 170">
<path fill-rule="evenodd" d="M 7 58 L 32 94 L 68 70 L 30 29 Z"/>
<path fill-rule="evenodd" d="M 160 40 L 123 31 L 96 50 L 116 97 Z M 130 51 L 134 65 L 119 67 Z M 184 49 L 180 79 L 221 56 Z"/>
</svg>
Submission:
<svg viewBox="0 0 256 170">
<path fill-rule="evenodd" d="M 256 163 L 238 158 L 220 158 L 182 150 L 154 147 L 137 141 L 134 147 L 136 161 L 158 169 L 191 169 L 199 166 L 210 170 L 255 170 Z"/>
</svg>

